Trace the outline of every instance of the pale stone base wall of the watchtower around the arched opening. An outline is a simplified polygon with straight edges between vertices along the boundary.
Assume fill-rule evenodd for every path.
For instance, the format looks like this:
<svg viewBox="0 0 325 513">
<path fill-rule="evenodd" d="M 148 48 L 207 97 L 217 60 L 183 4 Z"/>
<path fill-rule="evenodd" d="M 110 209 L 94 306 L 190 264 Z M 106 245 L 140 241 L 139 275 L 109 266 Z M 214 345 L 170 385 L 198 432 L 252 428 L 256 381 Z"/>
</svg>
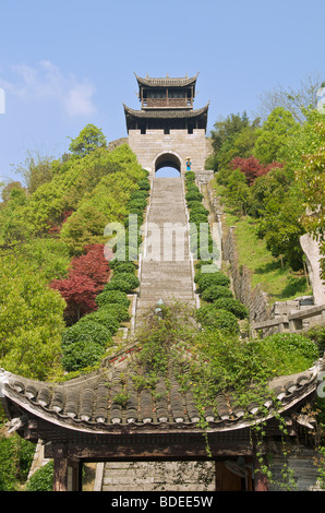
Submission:
<svg viewBox="0 0 325 513">
<path fill-rule="evenodd" d="M 135 153 L 143 168 L 155 174 L 156 159 L 164 154 L 171 154 L 181 164 L 181 174 L 184 174 L 185 159 L 191 158 L 192 170 L 197 172 L 204 169 L 206 157 L 210 153 L 209 140 L 205 136 L 205 130 L 170 130 L 165 134 L 164 130 L 147 130 L 142 134 L 140 130 L 130 130 L 129 145 Z"/>
</svg>

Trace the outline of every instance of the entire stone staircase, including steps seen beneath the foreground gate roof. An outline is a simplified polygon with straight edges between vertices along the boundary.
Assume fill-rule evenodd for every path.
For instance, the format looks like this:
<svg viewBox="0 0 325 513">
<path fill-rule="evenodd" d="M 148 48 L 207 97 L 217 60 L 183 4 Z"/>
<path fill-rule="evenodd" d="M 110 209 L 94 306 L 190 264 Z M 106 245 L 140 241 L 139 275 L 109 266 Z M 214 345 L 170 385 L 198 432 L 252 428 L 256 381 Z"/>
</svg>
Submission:
<svg viewBox="0 0 325 513">
<path fill-rule="evenodd" d="M 135 325 L 159 299 L 195 306 L 189 223 L 182 178 L 154 178 L 140 267 Z M 174 231 L 174 235 L 172 234 Z M 198 467 L 196 468 L 196 466 Z M 98 490 L 158 491 L 200 489 L 201 464 L 110 462 L 98 464 Z M 209 466 L 204 472 L 212 472 Z M 209 476 L 210 477 L 210 476 Z M 179 482 L 180 481 L 180 482 Z M 213 480 L 209 482 L 213 487 Z M 213 488 L 209 488 L 213 489 Z"/>
</svg>

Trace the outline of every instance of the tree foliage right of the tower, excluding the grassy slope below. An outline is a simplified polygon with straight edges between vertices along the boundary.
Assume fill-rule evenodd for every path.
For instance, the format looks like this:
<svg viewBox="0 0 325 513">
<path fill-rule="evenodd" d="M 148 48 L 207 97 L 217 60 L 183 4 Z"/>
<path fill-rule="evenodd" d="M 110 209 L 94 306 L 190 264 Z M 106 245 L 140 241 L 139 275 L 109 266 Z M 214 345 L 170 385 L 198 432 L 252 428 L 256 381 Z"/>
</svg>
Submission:
<svg viewBox="0 0 325 513">
<path fill-rule="evenodd" d="M 287 99 L 294 108 L 299 105 L 301 119 L 293 108 L 278 103 L 262 124 L 230 115 L 215 126 L 218 130 L 212 136 L 224 201 L 237 215 L 251 216 L 272 254 L 299 271 L 304 262 L 300 237 L 305 231 L 318 237 L 325 251 L 324 120 L 314 103 L 306 108 L 305 100 L 298 104 L 300 94 L 291 96 Z M 237 140 L 248 127 L 254 135 L 240 148 Z"/>
</svg>

